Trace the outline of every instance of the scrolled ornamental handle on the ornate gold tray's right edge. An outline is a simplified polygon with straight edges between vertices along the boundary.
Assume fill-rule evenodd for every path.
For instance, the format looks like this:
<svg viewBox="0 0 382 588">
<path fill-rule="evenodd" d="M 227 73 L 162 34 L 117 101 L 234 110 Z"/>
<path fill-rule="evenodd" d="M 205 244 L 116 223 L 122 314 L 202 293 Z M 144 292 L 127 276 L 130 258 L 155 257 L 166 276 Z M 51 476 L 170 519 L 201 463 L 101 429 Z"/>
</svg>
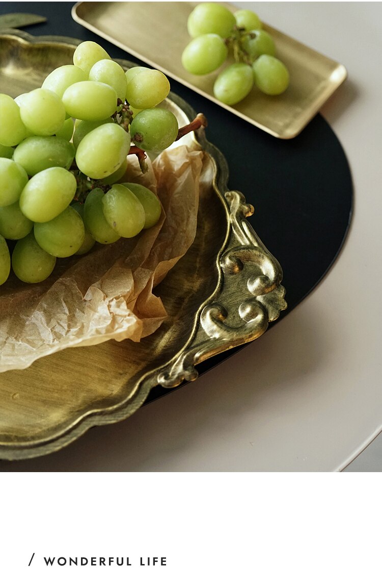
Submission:
<svg viewBox="0 0 382 588">
<path fill-rule="evenodd" d="M 195 365 L 257 339 L 286 308 L 282 269 L 246 221 L 253 206 L 240 192 L 226 192 L 224 200 L 229 233 L 218 260 L 218 286 L 201 308 L 187 344 L 158 375 L 164 387 L 196 379 Z"/>
</svg>

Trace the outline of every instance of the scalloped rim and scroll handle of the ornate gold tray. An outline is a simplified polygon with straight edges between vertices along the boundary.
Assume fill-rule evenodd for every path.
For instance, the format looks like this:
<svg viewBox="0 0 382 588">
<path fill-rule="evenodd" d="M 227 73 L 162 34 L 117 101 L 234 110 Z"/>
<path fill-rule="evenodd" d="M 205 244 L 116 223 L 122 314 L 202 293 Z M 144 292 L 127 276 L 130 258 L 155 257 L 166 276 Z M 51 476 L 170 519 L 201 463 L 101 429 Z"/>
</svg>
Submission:
<svg viewBox="0 0 382 588">
<path fill-rule="evenodd" d="M 65 36 L 32 36 L 17 29 L 4 29 L 0 33 L 0 38 L 9 36 L 25 43 L 69 45 L 73 49 L 81 42 L 79 39 Z M 125 60 L 116 61 L 127 67 L 134 65 L 133 62 Z M 180 96 L 171 93 L 170 99 L 189 119 L 193 118 L 194 110 Z M 133 388 L 135 394 L 127 394 L 124 400 L 113 406 L 84 411 L 63 431 L 53 433 L 49 437 L 29 442 L 1 442 L 0 459 L 19 460 L 47 455 L 69 445 L 93 426 L 108 425 L 126 419 L 143 405 L 152 387 L 160 384 L 165 388 L 171 388 L 180 385 L 184 380 L 194 380 L 198 376 L 195 369 L 198 363 L 258 338 L 268 328 L 268 323 L 276 320 L 280 311 L 286 308 L 285 288 L 280 285 L 282 269 L 246 221 L 246 217 L 253 213 L 252 205 L 245 202 L 240 192 L 227 191 L 227 161 L 222 153 L 207 141 L 204 131 L 198 132 L 197 142 L 215 162 L 213 187 L 224 206 L 227 227 L 217 259 L 217 285 L 198 309 L 194 324 L 190 326 L 187 342 L 177 350 L 173 358 L 141 376 Z M 238 325 L 229 326 L 225 323 L 225 308 L 221 302 L 227 295 L 224 276 L 240 274 L 242 266 L 248 262 L 257 264 L 261 270 L 261 275 L 252 280 L 251 285 L 241 284 L 241 288 L 244 288 L 241 291 L 245 292 L 246 298 L 248 295 L 252 296 L 255 308 L 253 309 L 253 305 L 249 305 L 251 308 L 243 308 L 243 316 L 239 319 Z M 239 301 L 242 302 L 242 299 Z M 246 313 L 253 310 L 255 315 L 252 320 Z"/>
</svg>

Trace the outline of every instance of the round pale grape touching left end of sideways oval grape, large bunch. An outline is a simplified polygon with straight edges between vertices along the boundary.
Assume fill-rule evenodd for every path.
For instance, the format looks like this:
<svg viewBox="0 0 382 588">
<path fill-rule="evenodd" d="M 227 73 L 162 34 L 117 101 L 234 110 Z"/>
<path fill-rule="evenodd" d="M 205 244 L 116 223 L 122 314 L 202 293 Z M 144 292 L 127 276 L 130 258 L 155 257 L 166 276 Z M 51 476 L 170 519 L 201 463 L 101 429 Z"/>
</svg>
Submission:
<svg viewBox="0 0 382 588">
<path fill-rule="evenodd" d="M 23 96 L 20 116 L 35 135 L 54 135 L 65 121 L 65 107 L 55 92 L 36 88 Z"/>
</svg>

